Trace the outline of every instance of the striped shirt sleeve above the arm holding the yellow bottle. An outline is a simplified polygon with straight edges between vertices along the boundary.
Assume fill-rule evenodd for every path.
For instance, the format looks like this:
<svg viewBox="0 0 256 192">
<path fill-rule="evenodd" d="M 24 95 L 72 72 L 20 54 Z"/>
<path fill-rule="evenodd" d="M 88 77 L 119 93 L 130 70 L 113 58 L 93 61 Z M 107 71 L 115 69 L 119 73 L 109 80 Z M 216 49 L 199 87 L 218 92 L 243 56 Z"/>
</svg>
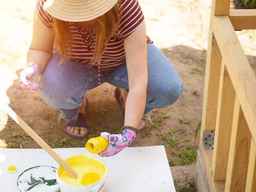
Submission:
<svg viewBox="0 0 256 192">
<path fill-rule="evenodd" d="M 121 24 L 117 28 L 123 38 L 127 38 L 144 21 L 138 0 L 121 0 Z"/>
</svg>

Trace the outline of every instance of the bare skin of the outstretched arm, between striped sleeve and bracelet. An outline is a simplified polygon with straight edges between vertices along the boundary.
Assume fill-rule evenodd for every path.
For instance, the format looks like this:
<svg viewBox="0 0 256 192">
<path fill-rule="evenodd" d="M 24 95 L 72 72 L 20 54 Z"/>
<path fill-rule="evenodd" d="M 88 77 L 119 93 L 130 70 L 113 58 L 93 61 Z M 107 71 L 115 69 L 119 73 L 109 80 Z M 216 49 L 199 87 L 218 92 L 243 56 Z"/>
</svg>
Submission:
<svg viewBox="0 0 256 192">
<path fill-rule="evenodd" d="M 144 113 L 148 84 L 145 22 L 124 40 L 124 49 L 129 80 L 124 125 L 137 128 Z"/>
</svg>

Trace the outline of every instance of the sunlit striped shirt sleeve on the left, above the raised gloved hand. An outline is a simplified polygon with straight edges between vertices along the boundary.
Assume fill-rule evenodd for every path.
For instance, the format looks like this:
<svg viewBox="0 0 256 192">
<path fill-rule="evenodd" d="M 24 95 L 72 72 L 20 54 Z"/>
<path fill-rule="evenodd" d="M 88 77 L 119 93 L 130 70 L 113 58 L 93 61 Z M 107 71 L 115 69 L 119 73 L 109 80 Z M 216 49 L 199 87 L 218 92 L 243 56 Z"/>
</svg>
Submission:
<svg viewBox="0 0 256 192">
<path fill-rule="evenodd" d="M 37 0 L 36 2 L 36 11 L 40 17 L 40 19 L 43 21 L 43 23 L 49 27 L 52 28 L 53 21 L 52 21 L 52 16 L 45 11 L 43 8 L 43 4 L 45 3 L 46 0 Z"/>
</svg>

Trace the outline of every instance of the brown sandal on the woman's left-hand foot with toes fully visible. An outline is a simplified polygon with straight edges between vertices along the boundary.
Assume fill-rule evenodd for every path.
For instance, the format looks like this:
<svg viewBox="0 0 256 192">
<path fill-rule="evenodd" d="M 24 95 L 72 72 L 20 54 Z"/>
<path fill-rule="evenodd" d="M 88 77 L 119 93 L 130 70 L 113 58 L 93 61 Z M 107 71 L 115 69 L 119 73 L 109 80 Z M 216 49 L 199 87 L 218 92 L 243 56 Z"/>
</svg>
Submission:
<svg viewBox="0 0 256 192">
<path fill-rule="evenodd" d="M 77 119 L 70 119 L 70 120 L 65 120 L 65 125 L 64 125 L 64 130 L 65 133 L 70 136 L 70 137 L 74 137 L 74 138 L 84 138 L 86 135 L 83 134 L 75 134 L 70 132 L 69 130 L 67 130 L 67 127 L 82 127 L 82 128 L 86 128 L 87 129 L 87 133 L 89 132 L 89 127 L 88 127 L 88 121 L 87 121 L 87 116 L 86 113 L 88 111 L 88 106 L 89 106 L 89 102 L 88 99 L 85 97 L 85 99 L 87 100 L 87 105 L 85 108 L 85 114 L 83 113 L 78 113 Z M 80 132 L 81 130 L 79 130 Z"/>
</svg>

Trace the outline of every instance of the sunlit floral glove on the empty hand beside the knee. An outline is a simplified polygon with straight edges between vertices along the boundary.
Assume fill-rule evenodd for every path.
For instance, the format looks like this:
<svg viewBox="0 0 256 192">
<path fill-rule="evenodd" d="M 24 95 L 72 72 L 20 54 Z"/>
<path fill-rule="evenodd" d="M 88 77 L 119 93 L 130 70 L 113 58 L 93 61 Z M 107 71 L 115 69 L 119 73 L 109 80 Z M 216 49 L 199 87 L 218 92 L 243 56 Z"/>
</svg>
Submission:
<svg viewBox="0 0 256 192">
<path fill-rule="evenodd" d="M 34 84 L 39 76 L 39 67 L 36 64 L 27 66 L 20 72 L 19 80 L 22 89 L 25 92 L 31 93 L 38 90 L 39 86 Z"/>
</svg>

